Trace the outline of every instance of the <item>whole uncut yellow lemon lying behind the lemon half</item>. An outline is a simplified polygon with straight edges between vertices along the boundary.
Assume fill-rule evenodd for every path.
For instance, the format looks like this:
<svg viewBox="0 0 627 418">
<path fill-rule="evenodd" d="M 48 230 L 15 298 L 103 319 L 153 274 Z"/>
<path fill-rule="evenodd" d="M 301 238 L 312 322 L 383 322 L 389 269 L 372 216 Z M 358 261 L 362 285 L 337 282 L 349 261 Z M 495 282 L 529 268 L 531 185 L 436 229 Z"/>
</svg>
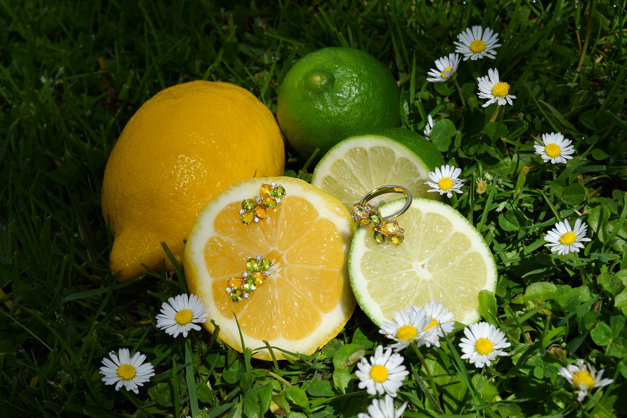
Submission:
<svg viewBox="0 0 627 418">
<path fill-rule="evenodd" d="M 164 258 L 171 269 L 161 242 L 182 262 L 184 240 L 214 195 L 245 178 L 280 176 L 284 165 L 277 122 L 247 90 L 208 81 L 162 90 L 130 119 L 105 168 L 113 275 L 127 281 L 142 264 L 161 271 Z"/>
</svg>

